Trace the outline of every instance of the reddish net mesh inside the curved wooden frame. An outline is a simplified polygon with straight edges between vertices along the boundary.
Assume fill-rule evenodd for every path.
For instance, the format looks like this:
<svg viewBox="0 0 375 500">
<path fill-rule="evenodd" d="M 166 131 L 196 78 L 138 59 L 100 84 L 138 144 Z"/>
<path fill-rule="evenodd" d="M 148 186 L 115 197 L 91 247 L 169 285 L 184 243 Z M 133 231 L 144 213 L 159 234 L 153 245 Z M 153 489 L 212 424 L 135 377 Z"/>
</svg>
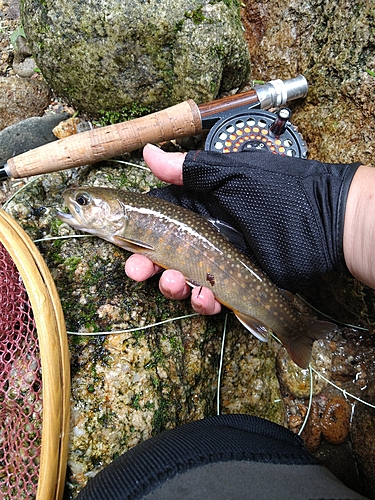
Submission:
<svg viewBox="0 0 375 500">
<path fill-rule="evenodd" d="M 36 497 L 42 376 L 31 304 L 0 243 L 0 499 Z"/>
</svg>

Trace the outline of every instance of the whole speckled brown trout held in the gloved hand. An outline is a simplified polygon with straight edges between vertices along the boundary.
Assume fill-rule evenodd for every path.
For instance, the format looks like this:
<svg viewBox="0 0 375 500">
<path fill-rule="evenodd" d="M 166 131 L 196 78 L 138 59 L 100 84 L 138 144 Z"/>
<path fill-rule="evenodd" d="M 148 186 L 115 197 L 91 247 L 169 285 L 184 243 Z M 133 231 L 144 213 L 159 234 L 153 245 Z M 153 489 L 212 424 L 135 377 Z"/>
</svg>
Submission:
<svg viewBox="0 0 375 500">
<path fill-rule="evenodd" d="M 291 294 L 290 300 L 207 219 L 190 210 L 109 188 L 73 188 L 63 196 L 70 210 L 57 213 L 63 222 L 176 269 L 192 286 L 211 288 L 260 340 L 273 331 L 302 368 L 308 366 L 314 340 L 335 328 L 302 316 Z"/>
</svg>

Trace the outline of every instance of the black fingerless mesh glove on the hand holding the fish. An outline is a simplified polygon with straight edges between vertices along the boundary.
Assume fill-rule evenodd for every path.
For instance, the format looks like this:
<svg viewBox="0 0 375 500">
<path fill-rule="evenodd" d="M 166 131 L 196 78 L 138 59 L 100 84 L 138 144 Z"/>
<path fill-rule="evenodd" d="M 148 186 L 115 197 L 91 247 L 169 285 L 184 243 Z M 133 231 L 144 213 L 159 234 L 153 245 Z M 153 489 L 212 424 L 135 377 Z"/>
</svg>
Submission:
<svg viewBox="0 0 375 500">
<path fill-rule="evenodd" d="M 321 163 L 264 151 L 191 151 L 184 186 L 151 191 L 230 224 L 243 234 L 245 253 L 281 288 L 309 286 L 343 255 L 346 199 L 360 163 Z"/>
</svg>

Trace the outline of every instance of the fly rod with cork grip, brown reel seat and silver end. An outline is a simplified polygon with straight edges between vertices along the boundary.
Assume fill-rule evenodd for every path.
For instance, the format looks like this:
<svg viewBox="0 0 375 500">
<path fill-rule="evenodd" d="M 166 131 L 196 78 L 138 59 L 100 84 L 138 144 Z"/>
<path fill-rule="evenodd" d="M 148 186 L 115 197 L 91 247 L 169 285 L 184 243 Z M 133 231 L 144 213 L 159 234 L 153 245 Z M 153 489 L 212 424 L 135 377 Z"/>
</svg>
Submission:
<svg viewBox="0 0 375 500">
<path fill-rule="evenodd" d="M 251 108 L 278 107 L 305 97 L 307 89 L 306 78 L 299 75 L 284 81 L 271 80 L 247 92 L 205 104 L 189 99 L 156 113 L 88 130 L 14 156 L 0 167 L 0 180 L 57 172 L 107 160 L 147 143 L 198 135 L 223 116 Z"/>
</svg>

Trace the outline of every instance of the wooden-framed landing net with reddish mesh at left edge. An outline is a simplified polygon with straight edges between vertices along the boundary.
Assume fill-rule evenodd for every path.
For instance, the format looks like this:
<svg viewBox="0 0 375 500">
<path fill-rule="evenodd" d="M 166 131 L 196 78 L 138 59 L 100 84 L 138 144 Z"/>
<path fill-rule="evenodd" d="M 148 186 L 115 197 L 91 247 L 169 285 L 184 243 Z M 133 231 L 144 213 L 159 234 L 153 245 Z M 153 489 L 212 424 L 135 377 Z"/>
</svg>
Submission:
<svg viewBox="0 0 375 500">
<path fill-rule="evenodd" d="M 0 498 L 60 500 L 70 368 L 55 284 L 38 249 L 0 210 Z"/>
</svg>

